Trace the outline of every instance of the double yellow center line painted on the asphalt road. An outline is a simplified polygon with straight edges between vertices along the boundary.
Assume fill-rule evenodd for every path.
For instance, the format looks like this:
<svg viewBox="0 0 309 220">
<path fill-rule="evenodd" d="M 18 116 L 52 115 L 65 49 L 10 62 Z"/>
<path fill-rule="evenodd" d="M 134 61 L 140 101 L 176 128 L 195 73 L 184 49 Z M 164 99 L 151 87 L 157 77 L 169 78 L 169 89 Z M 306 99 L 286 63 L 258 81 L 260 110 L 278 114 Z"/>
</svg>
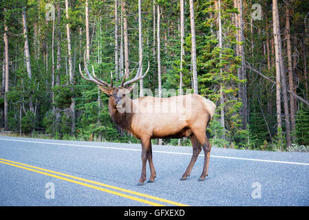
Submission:
<svg viewBox="0 0 309 220">
<path fill-rule="evenodd" d="M 120 197 L 125 197 L 127 199 L 131 199 L 131 200 L 135 200 L 135 201 L 140 201 L 142 203 L 146 203 L 146 204 L 149 204 L 149 205 L 152 205 L 152 206 L 164 206 L 164 205 L 162 205 L 161 203 L 156 203 L 156 202 L 153 202 L 153 201 L 149 201 L 149 200 L 146 200 L 146 199 L 141 199 L 139 197 L 134 197 L 134 196 L 131 196 L 131 195 L 138 195 L 140 197 L 144 197 L 144 198 L 147 198 L 147 199 L 152 199 L 152 200 L 160 201 L 160 202 L 163 202 L 163 203 L 168 203 L 168 204 L 173 205 L 173 206 L 187 206 L 187 205 L 184 205 L 182 203 L 175 202 L 175 201 L 170 201 L 170 200 L 167 200 L 167 199 L 161 199 L 159 197 L 153 197 L 151 195 L 143 194 L 143 193 L 140 193 L 140 192 L 135 192 L 135 191 L 132 191 L 132 190 L 127 190 L 127 189 L 119 188 L 119 187 L 116 187 L 116 186 L 102 184 L 100 182 L 92 181 L 92 180 L 89 180 L 89 179 L 84 179 L 84 178 L 81 178 L 81 177 L 74 177 L 72 175 L 67 175 L 65 173 L 59 173 L 59 172 L 56 172 L 56 171 L 53 171 L 53 170 L 47 170 L 45 168 L 39 168 L 37 166 L 31 166 L 31 165 L 28 165 L 28 164 L 22 164 L 22 163 L 19 163 L 19 162 L 14 162 L 14 161 L 8 160 L 8 159 L 0 158 L 0 163 L 7 164 L 7 165 L 10 165 L 10 166 L 15 166 L 15 167 L 22 168 L 22 169 L 25 169 L 25 170 L 30 170 L 30 171 L 35 172 L 35 173 L 41 173 L 43 175 L 47 175 L 47 176 L 54 177 L 54 178 L 57 178 L 57 179 L 62 179 L 62 180 L 65 180 L 65 181 L 70 181 L 70 182 L 72 182 L 74 184 L 79 184 L 79 185 L 82 185 L 82 186 L 87 186 L 89 188 L 94 188 L 96 190 L 100 190 L 100 191 L 103 191 L 103 192 L 108 192 L 108 193 L 111 193 L 113 195 L 118 195 Z M 43 171 L 45 171 L 45 172 L 43 172 Z M 48 172 L 48 173 L 46 173 L 46 172 Z M 69 179 L 69 178 L 71 178 L 71 179 Z M 77 179 L 79 181 L 74 180 L 74 179 Z M 82 182 L 82 181 L 84 181 L 84 182 Z M 89 183 L 89 184 L 87 184 L 87 183 Z M 97 186 L 94 186 L 94 185 L 91 185 L 91 184 L 95 184 Z M 100 187 L 100 186 L 103 186 L 105 188 Z M 109 190 L 107 188 L 111 188 L 113 190 Z M 114 191 L 114 190 L 118 190 L 118 191 L 121 191 L 121 192 L 117 192 L 117 191 Z M 127 194 L 124 194 L 122 192 L 127 192 L 127 193 L 129 193 L 131 195 L 127 195 Z"/>
</svg>

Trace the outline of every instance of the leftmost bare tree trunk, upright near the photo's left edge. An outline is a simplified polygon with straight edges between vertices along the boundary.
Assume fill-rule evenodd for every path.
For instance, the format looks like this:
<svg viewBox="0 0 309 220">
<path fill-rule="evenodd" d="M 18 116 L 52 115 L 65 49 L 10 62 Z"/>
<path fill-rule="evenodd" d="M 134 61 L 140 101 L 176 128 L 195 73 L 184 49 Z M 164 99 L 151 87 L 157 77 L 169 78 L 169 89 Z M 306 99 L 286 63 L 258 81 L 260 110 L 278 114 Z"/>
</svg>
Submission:
<svg viewBox="0 0 309 220">
<path fill-rule="evenodd" d="M 4 12 L 6 12 L 6 8 L 4 8 Z M 4 47 L 6 51 L 6 89 L 4 93 L 4 131 L 8 131 L 8 90 L 9 90 L 9 66 L 8 66 L 8 25 L 6 24 L 6 20 L 4 20 L 4 33 L 3 33 L 3 41 Z"/>
</svg>

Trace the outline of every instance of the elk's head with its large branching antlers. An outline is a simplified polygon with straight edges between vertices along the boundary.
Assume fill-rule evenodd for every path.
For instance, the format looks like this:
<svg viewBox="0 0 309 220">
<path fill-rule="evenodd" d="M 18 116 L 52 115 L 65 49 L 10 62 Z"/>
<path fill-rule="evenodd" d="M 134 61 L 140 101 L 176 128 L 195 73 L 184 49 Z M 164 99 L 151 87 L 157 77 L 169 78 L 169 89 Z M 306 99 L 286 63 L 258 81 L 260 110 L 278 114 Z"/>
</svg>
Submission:
<svg viewBox="0 0 309 220">
<path fill-rule="evenodd" d="M 131 80 L 128 80 L 125 82 L 125 76 L 123 76 L 121 84 L 119 87 L 114 87 L 113 85 L 113 77 L 111 75 L 111 84 L 106 83 L 105 81 L 101 80 L 100 78 L 96 77 L 96 74 L 94 73 L 94 67 L 92 66 L 92 75 L 89 73 L 87 69 L 87 63 L 86 58 L 84 54 L 84 68 L 85 73 L 87 74 L 88 78 L 84 76 L 82 70 L 81 70 L 81 64 L 79 64 L 79 72 L 81 73 L 81 76 L 88 81 L 91 81 L 93 83 L 96 83 L 98 87 L 105 93 L 107 96 L 109 96 L 109 104 L 112 105 L 112 107 L 124 107 L 125 104 L 125 96 L 126 94 L 129 94 L 132 89 L 134 88 L 134 85 L 131 85 L 132 83 L 135 83 L 138 80 L 141 80 L 142 78 L 145 78 L 149 71 L 149 61 L 148 61 L 148 68 L 144 75 L 140 74 L 140 63 L 138 67 L 138 71 L 136 72 L 136 76 L 132 78 Z"/>
</svg>

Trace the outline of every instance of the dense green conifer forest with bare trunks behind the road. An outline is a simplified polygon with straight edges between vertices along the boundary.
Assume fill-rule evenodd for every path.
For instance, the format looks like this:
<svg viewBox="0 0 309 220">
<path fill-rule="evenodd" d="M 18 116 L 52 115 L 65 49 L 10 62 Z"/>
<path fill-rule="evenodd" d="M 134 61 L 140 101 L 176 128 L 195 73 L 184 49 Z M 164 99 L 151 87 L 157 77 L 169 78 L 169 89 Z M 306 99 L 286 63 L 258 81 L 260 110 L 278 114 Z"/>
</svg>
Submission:
<svg viewBox="0 0 309 220">
<path fill-rule="evenodd" d="M 309 0 L 0 3 L 1 135 L 137 143 L 78 65 L 120 85 L 178 89 L 217 110 L 214 146 L 309 151 Z M 161 92 L 160 92 L 161 91 Z M 154 144 L 190 145 L 186 139 Z"/>
</svg>

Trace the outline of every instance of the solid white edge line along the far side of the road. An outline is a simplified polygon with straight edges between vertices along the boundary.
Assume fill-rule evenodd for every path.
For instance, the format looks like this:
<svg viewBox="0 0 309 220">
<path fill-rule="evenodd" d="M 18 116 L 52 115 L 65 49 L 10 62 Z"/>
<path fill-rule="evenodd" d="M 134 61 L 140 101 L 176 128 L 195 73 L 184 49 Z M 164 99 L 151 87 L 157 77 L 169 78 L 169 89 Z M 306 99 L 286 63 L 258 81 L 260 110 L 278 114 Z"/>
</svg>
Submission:
<svg viewBox="0 0 309 220">
<path fill-rule="evenodd" d="M 141 149 L 134 149 L 134 148 L 119 148 L 119 147 L 111 147 L 111 146 L 92 146 L 92 145 L 81 145 L 81 144 L 63 144 L 63 143 L 55 143 L 55 142 L 37 142 L 37 141 L 30 141 L 30 140 L 15 140 L 15 139 L 7 139 L 7 138 L 0 138 L 0 140 L 8 140 L 13 142 L 30 142 L 36 144 L 54 144 L 54 145 L 63 145 L 63 146 L 83 146 L 83 147 L 91 147 L 91 148 L 106 148 L 106 149 L 116 149 L 116 150 L 125 150 L 125 151 L 141 151 Z M 153 151 L 155 153 L 170 153 L 170 154 L 178 154 L 178 155 L 192 155 L 191 153 L 181 153 L 181 152 L 171 152 L 171 151 Z M 204 155 L 199 155 L 200 157 Z M 242 159 L 242 160 L 250 160 L 256 162 L 269 162 L 269 163 L 279 163 L 279 164 L 296 164 L 296 165 L 305 165 L 309 166 L 306 163 L 299 163 L 299 162 L 287 162 L 287 161 L 279 161 L 279 160 L 269 160 L 269 159 L 253 159 L 253 158 L 244 158 L 244 157 L 226 157 L 226 156 L 217 156 L 211 155 L 211 157 L 217 158 L 224 158 L 224 159 Z"/>
</svg>

